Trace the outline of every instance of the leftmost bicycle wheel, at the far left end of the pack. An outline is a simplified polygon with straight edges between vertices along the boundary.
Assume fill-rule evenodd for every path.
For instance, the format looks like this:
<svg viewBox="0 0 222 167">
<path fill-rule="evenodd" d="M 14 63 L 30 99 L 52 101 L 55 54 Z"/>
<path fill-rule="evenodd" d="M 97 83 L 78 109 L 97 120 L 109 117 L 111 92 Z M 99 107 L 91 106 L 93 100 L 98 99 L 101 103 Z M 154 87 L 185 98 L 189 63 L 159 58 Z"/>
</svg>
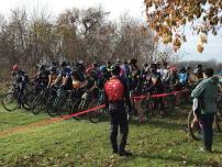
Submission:
<svg viewBox="0 0 222 167">
<path fill-rule="evenodd" d="M 18 96 L 14 92 L 8 92 L 2 97 L 2 105 L 7 111 L 16 110 L 19 107 Z"/>
</svg>

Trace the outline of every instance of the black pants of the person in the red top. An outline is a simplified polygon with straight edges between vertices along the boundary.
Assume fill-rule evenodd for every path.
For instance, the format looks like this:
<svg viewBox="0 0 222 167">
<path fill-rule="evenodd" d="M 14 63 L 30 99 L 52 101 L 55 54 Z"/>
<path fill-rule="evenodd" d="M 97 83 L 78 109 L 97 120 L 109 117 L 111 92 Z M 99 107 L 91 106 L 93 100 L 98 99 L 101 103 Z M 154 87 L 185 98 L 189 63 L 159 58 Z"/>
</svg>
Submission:
<svg viewBox="0 0 222 167">
<path fill-rule="evenodd" d="M 129 132 L 129 122 L 127 122 L 127 114 L 124 109 L 114 109 L 110 110 L 110 118 L 111 118 L 111 134 L 110 141 L 112 145 L 113 152 L 124 152 L 126 140 L 127 140 L 127 132 Z M 118 145 L 118 133 L 120 129 L 120 145 Z"/>
</svg>

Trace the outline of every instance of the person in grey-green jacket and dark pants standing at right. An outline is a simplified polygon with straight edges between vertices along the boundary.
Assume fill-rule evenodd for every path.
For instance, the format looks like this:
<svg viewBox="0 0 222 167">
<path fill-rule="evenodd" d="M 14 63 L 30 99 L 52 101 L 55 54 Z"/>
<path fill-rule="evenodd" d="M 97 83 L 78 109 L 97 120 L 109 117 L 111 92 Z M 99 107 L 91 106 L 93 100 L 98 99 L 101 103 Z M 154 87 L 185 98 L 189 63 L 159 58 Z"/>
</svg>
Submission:
<svg viewBox="0 0 222 167">
<path fill-rule="evenodd" d="M 213 76 L 213 69 L 208 68 L 203 73 L 204 79 L 195 88 L 191 97 L 200 102 L 201 113 L 196 113 L 202 127 L 202 152 L 212 152 L 213 130 L 212 124 L 217 113 L 217 98 L 220 92 L 219 78 Z"/>
</svg>

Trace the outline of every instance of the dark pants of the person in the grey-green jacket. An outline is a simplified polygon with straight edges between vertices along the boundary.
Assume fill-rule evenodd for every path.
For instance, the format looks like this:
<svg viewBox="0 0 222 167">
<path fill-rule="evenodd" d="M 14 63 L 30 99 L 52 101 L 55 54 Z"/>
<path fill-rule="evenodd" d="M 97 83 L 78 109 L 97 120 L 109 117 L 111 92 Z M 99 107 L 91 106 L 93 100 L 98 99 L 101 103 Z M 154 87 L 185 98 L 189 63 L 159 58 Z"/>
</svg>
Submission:
<svg viewBox="0 0 222 167">
<path fill-rule="evenodd" d="M 203 147 L 209 151 L 211 151 L 213 142 L 213 120 L 214 113 L 207 113 L 201 115 Z"/>
</svg>

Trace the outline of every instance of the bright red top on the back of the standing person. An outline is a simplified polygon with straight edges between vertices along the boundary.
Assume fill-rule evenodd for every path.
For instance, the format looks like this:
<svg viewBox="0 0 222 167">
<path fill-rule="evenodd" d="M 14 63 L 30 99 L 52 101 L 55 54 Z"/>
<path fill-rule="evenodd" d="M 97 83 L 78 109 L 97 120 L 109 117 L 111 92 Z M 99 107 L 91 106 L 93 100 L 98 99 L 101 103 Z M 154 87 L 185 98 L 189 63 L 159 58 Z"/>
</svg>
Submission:
<svg viewBox="0 0 222 167">
<path fill-rule="evenodd" d="M 104 91 L 108 96 L 109 102 L 116 102 L 124 100 L 124 86 L 119 78 L 111 78 L 104 85 Z"/>
</svg>

